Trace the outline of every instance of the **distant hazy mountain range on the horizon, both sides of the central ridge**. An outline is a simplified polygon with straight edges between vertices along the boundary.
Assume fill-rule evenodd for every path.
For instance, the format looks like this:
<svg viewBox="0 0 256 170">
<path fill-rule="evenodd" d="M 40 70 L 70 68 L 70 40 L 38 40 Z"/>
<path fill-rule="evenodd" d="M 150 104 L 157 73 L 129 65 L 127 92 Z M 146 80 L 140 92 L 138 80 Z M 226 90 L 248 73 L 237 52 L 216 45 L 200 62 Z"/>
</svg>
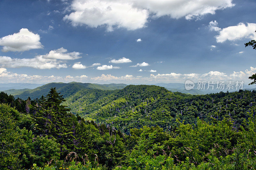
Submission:
<svg viewBox="0 0 256 170">
<path fill-rule="evenodd" d="M 234 92 L 239 89 L 218 89 L 217 84 L 212 88 L 208 88 L 208 83 L 205 84 L 205 89 L 197 89 L 197 83 L 195 83 L 194 89 L 186 90 L 184 83 L 156 83 L 149 84 L 164 87 L 172 92 L 180 92 L 191 95 L 205 95 L 211 93 L 218 93 L 220 91 Z M 4 91 L 8 95 L 19 97 L 21 99 L 40 98 L 42 95 L 46 95 L 50 88 L 55 87 L 59 93 L 63 93 L 64 97 L 75 94 L 82 89 L 100 89 L 100 90 L 116 90 L 123 89 L 126 84 L 97 84 L 97 83 L 81 83 L 81 82 L 69 82 L 69 83 L 48 83 L 48 84 L 30 84 L 30 83 L 2 83 L 0 84 L 0 91 Z M 235 85 L 234 85 L 235 87 Z M 244 90 L 256 90 L 254 86 L 243 85 Z"/>
</svg>

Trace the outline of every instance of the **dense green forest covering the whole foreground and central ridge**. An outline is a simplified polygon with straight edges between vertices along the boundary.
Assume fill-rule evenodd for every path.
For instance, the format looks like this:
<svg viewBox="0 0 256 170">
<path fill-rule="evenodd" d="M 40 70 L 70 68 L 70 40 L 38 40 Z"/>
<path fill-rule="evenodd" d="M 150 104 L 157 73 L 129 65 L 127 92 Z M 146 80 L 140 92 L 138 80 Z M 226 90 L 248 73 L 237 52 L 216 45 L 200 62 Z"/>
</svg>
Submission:
<svg viewBox="0 0 256 170">
<path fill-rule="evenodd" d="M 0 169 L 256 169 L 255 95 L 146 85 L 66 101 L 55 88 L 34 100 L 1 92 Z"/>
</svg>

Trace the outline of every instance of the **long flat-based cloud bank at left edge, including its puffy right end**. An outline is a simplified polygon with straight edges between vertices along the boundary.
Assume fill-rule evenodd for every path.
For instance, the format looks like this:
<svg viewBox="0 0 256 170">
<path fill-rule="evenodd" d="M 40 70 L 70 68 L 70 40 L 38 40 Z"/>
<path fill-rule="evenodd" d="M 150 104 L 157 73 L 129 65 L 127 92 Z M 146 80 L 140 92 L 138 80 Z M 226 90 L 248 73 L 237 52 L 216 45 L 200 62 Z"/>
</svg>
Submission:
<svg viewBox="0 0 256 170">
<path fill-rule="evenodd" d="M 57 50 L 52 50 L 45 55 L 38 55 L 34 58 L 11 58 L 7 56 L 0 56 L 0 67 L 20 68 L 31 67 L 37 69 L 51 69 L 51 68 L 67 68 L 67 64 L 63 60 L 74 60 L 81 58 L 80 53 L 67 53 L 67 49 L 63 47 Z"/>
</svg>

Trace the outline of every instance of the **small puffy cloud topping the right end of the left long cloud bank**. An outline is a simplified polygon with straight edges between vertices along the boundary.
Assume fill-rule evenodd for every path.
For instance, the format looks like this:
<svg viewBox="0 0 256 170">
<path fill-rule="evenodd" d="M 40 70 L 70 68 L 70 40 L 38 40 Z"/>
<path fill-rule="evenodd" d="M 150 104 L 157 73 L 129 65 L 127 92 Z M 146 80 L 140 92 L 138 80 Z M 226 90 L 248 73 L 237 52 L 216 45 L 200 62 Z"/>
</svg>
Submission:
<svg viewBox="0 0 256 170">
<path fill-rule="evenodd" d="M 81 58 L 81 53 L 79 52 L 72 52 L 68 53 L 68 50 L 61 47 L 57 50 L 51 50 L 48 54 L 43 55 L 46 59 L 57 59 L 57 60 L 75 60 Z"/>
</svg>

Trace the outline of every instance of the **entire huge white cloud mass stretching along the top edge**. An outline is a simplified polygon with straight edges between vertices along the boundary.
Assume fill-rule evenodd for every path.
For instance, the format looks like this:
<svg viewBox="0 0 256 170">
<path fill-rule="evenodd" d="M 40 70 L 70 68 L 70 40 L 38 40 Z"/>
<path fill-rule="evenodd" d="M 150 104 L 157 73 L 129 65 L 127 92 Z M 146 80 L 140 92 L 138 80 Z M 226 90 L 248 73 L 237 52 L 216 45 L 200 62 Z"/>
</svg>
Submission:
<svg viewBox="0 0 256 170">
<path fill-rule="evenodd" d="M 233 7 L 232 0 L 74 0 L 73 11 L 63 19 L 72 25 L 87 25 L 92 28 L 107 26 L 135 30 L 143 28 L 149 19 L 162 16 L 193 19 L 205 14 L 215 14 L 216 10 Z"/>
</svg>

